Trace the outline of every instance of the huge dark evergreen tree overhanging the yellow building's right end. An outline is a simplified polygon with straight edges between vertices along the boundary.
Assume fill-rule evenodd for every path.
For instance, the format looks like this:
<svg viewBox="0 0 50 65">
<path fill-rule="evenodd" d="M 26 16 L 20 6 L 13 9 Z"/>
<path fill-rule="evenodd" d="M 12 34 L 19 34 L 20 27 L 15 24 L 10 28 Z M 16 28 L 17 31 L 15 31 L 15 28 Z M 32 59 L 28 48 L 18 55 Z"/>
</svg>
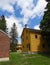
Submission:
<svg viewBox="0 0 50 65">
<path fill-rule="evenodd" d="M 50 47 L 50 0 L 46 0 L 48 2 L 45 11 L 43 20 L 40 22 L 40 29 L 42 31 L 42 37 L 43 39 L 48 43 L 48 46 Z"/>
</svg>

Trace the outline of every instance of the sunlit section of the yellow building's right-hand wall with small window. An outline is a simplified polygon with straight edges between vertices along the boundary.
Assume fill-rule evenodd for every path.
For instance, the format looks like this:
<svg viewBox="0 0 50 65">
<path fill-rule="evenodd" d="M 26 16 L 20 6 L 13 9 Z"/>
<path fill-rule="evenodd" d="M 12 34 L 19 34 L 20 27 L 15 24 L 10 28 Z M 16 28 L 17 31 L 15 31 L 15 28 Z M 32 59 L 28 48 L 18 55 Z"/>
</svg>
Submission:
<svg viewBox="0 0 50 65">
<path fill-rule="evenodd" d="M 41 47 L 39 48 L 40 45 L 40 34 L 37 33 L 30 33 L 30 39 L 31 39 L 31 52 L 38 52 L 41 51 Z M 39 48 L 39 49 L 38 49 Z"/>
</svg>

